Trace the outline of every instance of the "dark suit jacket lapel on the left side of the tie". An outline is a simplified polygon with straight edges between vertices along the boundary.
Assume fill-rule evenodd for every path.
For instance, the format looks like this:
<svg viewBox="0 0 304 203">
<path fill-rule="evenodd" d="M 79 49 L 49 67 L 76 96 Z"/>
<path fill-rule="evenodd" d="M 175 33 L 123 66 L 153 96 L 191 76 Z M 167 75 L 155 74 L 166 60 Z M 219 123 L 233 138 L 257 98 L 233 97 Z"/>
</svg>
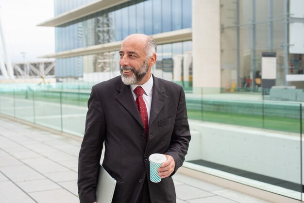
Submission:
<svg viewBox="0 0 304 203">
<path fill-rule="evenodd" d="M 118 102 L 137 120 L 137 122 L 142 126 L 143 123 L 140 118 L 139 111 L 136 107 L 131 89 L 129 85 L 124 85 L 120 80 L 117 85 L 117 91 L 119 94 L 116 96 Z"/>
</svg>

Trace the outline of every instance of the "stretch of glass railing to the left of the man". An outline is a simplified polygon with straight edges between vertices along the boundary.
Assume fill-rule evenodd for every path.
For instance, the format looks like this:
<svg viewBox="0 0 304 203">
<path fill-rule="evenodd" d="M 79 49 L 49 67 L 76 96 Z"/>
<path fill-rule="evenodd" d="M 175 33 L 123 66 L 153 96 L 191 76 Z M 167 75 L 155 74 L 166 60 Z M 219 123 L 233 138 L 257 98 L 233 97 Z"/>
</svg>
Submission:
<svg viewBox="0 0 304 203">
<path fill-rule="evenodd" d="M 0 113 L 72 135 L 84 135 L 89 93 L 0 88 Z"/>
</svg>

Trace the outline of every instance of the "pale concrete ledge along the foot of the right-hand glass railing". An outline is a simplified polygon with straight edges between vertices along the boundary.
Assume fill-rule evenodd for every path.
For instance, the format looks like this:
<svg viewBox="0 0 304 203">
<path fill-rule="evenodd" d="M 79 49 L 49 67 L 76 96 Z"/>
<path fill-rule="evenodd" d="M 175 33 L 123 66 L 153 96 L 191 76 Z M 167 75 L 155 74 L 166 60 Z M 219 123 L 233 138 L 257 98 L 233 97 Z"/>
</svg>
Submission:
<svg viewBox="0 0 304 203">
<path fill-rule="evenodd" d="M 218 186 L 226 187 L 229 189 L 236 190 L 238 192 L 242 192 L 244 194 L 251 195 L 253 197 L 257 197 L 266 201 L 270 201 L 273 203 L 302 203 L 299 200 L 291 199 L 284 197 L 282 195 L 274 194 L 262 189 L 258 189 L 251 186 L 246 186 L 240 183 L 236 183 L 227 179 L 223 179 L 214 175 L 210 175 L 207 173 L 203 173 L 197 170 L 188 169 L 186 167 L 181 167 L 178 169 L 178 172 L 199 180 L 203 180 Z"/>
</svg>

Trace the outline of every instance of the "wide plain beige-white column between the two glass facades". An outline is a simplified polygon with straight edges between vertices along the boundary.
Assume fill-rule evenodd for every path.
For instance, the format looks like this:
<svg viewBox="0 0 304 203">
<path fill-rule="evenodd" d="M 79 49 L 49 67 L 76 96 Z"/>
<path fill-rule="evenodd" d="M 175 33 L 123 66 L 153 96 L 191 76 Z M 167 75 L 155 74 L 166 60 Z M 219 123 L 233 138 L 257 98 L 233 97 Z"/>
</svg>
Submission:
<svg viewBox="0 0 304 203">
<path fill-rule="evenodd" d="M 193 87 L 220 87 L 220 0 L 192 0 Z"/>
</svg>

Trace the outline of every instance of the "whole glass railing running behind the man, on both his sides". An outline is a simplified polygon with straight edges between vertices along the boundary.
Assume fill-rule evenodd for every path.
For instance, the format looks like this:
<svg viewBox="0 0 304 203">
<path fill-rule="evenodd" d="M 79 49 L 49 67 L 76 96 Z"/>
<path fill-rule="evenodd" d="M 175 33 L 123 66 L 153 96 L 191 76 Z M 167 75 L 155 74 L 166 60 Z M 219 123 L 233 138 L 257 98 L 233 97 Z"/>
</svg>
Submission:
<svg viewBox="0 0 304 203">
<path fill-rule="evenodd" d="M 91 86 L 0 85 L 0 114 L 83 136 Z M 192 140 L 184 166 L 300 200 L 303 90 L 282 91 L 186 90 Z"/>
</svg>

